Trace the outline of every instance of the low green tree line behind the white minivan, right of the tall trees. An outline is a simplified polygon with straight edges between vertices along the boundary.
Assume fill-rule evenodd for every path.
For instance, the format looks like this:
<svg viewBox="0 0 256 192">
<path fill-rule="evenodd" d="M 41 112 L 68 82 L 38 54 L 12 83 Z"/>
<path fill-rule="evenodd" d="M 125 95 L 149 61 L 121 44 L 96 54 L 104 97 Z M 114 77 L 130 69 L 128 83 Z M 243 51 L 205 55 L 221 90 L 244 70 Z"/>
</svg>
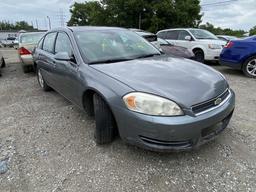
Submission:
<svg viewBox="0 0 256 192">
<path fill-rule="evenodd" d="M 244 30 L 232 30 L 232 29 L 222 29 L 220 27 L 214 27 L 210 23 L 206 23 L 204 25 L 199 26 L 201 29 L 206 29 L 210 32 L 212 32 L 215 35 L 231 35 L 236 37 L 243 37 L 246 31 Z"/>
</svg>

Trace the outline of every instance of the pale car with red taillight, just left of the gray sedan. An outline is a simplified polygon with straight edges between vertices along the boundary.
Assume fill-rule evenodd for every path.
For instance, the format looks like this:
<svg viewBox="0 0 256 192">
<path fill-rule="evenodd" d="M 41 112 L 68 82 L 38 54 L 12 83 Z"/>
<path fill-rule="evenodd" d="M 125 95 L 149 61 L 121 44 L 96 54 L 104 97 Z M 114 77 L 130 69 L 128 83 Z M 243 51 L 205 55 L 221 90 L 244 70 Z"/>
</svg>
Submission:
<svg viewBox="0 0 256 192">
<path fill-rule="evenodd" d="M 33 57 L 32 52 L 44 36 L 44 32 L 33 32 L 33 33 L 21 33 L 19 36 L 18 55 L 20 58 L 22 70 L 24 73 L 28 73 L 33 70 Z"/>
</svg>

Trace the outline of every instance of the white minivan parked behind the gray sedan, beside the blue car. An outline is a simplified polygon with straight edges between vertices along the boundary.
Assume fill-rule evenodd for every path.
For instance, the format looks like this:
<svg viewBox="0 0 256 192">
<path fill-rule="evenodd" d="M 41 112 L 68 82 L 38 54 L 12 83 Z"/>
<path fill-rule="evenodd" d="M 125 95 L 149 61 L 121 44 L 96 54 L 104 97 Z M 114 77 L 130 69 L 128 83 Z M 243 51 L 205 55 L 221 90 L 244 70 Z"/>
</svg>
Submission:
<svg viewBox="0 0 256 192">
<path fill-rule="evenodd" d="M 157 33 L 157 36 L 174 45 L 189 49 L 195 54 L 195 60 L 202 63 L 218 61 L 226 44 L 209 31 L 196 28 L 162 30 Z"/>
</svg>

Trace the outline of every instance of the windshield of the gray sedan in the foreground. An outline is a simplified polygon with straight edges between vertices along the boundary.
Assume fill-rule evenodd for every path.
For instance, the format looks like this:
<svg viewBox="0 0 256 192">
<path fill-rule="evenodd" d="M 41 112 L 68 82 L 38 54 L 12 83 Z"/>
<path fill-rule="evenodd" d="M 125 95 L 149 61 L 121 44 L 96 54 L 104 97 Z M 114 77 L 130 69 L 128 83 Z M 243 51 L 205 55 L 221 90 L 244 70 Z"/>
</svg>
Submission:
<svg viewBox="0 0 256 192">
<path fill-rule="evenodd" d="M 89 64 L 118 62 L 160 55 L 144 38 L 128 30 L 74 32 L 82 57 Z"/>
</svg>

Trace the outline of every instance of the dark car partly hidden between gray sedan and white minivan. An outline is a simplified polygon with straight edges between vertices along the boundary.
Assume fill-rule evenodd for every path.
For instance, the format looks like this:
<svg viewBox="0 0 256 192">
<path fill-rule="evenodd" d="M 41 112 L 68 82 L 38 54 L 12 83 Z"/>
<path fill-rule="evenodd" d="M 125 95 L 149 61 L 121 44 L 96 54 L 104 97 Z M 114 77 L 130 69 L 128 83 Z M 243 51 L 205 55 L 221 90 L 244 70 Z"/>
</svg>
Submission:
<svg viewBox="0 0 256 192">
<path fill-rule="evenodd" d="M 195 57 L 194 53 L 192 53 L 185 47 L 173 45 L 173 44 L 169 43 L 168 41 L 161 39 L 161 38 L 157 38 L 157 41 L 160 44 L 161 51 L 167 55 L 184 57 L 186 59 L 194 59 L 194 57 Z"/>
</svg>

